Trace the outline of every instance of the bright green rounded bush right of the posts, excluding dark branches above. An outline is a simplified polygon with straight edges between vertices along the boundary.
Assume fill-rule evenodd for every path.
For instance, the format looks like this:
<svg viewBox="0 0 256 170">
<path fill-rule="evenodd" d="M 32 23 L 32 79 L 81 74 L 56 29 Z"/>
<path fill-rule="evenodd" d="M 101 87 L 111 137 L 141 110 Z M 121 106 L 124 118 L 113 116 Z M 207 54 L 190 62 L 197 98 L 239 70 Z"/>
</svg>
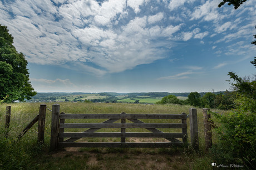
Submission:
<svg viewBox="0 0 256 170">
<path fill-rule="evenodd" d="M 256 168 L 256 114 L 252 112 L 255 101 L 244 96 L 235 100 L 237 109 L 226 115 L 214 115 L 219 127 L 217 144 L 212 153 L 221 163 L 240 163 L 247 168 Z"/>
</svg>

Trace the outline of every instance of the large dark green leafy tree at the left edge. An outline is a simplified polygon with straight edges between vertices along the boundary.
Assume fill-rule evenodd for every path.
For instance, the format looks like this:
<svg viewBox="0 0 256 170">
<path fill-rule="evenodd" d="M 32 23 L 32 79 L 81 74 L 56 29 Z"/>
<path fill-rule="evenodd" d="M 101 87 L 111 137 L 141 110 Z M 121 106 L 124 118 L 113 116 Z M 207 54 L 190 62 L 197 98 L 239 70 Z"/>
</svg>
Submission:
<svg viewBox="0 0 256 170">
<path fill-rule="evenodd" d="M 24 101 L 36 95 L 27 69 L 24 54 L 13 46 L 13 37 L 6 26 L 0 24 L 0 100 Z"/>
</svg>

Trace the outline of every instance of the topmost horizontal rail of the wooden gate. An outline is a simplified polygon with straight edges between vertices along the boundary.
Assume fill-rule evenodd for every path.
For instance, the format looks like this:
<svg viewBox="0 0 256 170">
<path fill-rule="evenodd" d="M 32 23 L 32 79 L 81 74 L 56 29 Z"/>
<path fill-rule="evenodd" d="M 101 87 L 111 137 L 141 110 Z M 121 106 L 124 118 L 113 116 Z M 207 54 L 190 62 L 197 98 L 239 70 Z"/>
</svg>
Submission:
<svg viewBox="0 0 256 170">
<path fill-rule="evenodd" d="M 65 114 L 60 119 L 185 119 L 181 114 Z"/>
</svg>

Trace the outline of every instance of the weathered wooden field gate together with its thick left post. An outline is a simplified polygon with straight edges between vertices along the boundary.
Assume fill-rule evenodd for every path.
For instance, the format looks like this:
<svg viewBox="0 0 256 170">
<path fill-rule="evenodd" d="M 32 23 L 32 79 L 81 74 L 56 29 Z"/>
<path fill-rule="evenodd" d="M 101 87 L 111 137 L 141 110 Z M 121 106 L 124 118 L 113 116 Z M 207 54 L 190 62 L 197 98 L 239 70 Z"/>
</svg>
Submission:
<svg viewBox="0 0 256 170">
<path fill-rule="evenodd" d="M 171 147 L 187 142 L 186 114 L 60 114 L 60 105 L 52 106 L 51 146 L 58 147 Z M 101 123 L 65 123 L 67 119 L 107 119 Z M 143 120 L 173 120 L 180 123 L 145 123 Z M 114 123 L 121 120 L 120 123 Z M 126 123 L 129 120 L 131 123 Z M 148 122 L 147 121 L 147 122 Z M 65 132 L 66 128 L 88 128 L 83 132 Z M 96 132 L 101 128 L 120 128 L 120 132 Z M 126 132 L 126 128 L 145 128 L 150 132 Z M 163 132 L 157 128 L 180 128 L 182 132 Z M 120 142 L 75 142 L 80 138 L 120 138 Z M 126 142 L 126 138 L 165 138 L 166 142 Z M 65 141 L 63 139 L 66 139 Z M 178 138 L 180 140 L 178 140 Z"/>
</svg>

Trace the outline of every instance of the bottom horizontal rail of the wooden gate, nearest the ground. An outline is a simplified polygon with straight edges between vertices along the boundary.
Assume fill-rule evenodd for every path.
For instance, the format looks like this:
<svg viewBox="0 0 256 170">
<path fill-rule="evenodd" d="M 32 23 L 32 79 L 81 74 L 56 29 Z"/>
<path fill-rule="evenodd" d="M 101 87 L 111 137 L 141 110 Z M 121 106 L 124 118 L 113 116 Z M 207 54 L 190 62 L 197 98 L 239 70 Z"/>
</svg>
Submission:
<svg viewBox="0 0 256 170">
<path fill-rule="evenodd" d="M 183 146 L 183 142 L 155 142 L 155 143 L 130 143 L 130 142 L 60 142 L 60 147 L 122 147 L 122 148 L 160 148 Z"/>
</svg>

